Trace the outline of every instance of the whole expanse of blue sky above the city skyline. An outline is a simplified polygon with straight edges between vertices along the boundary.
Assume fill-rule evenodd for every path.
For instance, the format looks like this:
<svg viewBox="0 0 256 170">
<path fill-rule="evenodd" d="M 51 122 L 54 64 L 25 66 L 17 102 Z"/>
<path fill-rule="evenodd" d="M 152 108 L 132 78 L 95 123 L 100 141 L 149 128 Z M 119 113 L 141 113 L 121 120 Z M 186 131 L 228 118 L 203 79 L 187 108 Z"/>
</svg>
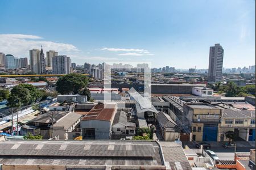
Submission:
<svg viewBox="0 0 256 170">
<path fill-rule="evenodd" d="M 72 62 L 151 61 L 208 68 L 220 43 L 224 67 L 255 65 L 255 1 L 0 1 L 0 52 L 40 48 Z"/>
</svg>

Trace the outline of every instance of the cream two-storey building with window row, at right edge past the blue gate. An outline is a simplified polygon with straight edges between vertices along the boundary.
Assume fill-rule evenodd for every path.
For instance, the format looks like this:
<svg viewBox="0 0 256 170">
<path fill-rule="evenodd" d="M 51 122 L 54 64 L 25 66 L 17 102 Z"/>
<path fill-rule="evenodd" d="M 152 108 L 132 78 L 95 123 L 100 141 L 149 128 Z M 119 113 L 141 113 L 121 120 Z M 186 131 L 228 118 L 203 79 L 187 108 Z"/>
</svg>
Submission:
<svg viewBox="0 0 256 170">
<path fill-rule="evenodd" d="M 255 141 L 255 111 L 224 109 L 218 128 L 218 141 L 229 141 L 225 133 L 234 131 L 244 141 Z"/>
</svg>

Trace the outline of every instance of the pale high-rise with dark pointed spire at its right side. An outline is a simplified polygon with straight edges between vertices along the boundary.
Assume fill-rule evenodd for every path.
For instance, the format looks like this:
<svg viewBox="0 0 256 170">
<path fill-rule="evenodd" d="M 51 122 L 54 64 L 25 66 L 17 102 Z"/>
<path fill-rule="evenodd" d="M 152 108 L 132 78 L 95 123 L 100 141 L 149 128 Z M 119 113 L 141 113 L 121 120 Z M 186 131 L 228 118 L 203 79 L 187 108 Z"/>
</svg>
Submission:
<svg viewBox="0 0 256 170">
<path fill-rule="evenodd" d="M 46 72 L 46 59 L 44 58 L 43 48 L 30 50 L 30 69 L 36 74 Z"/>
</svg>

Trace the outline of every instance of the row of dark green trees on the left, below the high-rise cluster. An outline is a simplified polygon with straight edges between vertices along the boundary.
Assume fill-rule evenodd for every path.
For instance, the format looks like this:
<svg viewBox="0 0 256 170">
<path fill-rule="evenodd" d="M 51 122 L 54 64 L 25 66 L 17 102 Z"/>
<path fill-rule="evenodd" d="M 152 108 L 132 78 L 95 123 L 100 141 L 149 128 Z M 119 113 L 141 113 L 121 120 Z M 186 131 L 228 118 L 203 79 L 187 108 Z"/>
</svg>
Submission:
<svg viewBox="0 0 256 170">
<path fill-rule="evenodd" d="M 46 78 L 35 78 L 36 81 L 46 80 Z M 88 78 L 85 75 L 71 73 L 61 76 L 56 82 L 56 90 L 60 94 L 80 94 L 87 96 L 90 100 L 90 91 L 86 86 L 88 85 Z M 0 90 L 0 101 L 7 100 L 9 107 L 21 107 L 22 105 L 30 105 L 35 101 L 46 100 L 48 96 L 55 97 L 57 92 L 46 92 L 38 90 L 31 84 L 19 84 L 13 89 Z"/>
</svg>

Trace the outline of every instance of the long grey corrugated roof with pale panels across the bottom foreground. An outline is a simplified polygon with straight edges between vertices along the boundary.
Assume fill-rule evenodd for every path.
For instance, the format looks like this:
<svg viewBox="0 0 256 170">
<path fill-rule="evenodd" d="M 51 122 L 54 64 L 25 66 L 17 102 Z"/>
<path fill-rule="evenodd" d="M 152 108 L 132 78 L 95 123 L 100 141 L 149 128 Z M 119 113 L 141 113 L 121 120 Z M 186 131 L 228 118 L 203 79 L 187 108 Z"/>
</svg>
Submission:
<svg viewBox="0 0 256 170">
<path fill-rule="evenodd" d="M 11 149 L 14 146 L 15 149 Z M 0 142 L 0 163 L 5 165 L 164 165 L 160 147 L 154 141 L 26 141 L 26 143 L 5 141 Z"/>
</svg>

